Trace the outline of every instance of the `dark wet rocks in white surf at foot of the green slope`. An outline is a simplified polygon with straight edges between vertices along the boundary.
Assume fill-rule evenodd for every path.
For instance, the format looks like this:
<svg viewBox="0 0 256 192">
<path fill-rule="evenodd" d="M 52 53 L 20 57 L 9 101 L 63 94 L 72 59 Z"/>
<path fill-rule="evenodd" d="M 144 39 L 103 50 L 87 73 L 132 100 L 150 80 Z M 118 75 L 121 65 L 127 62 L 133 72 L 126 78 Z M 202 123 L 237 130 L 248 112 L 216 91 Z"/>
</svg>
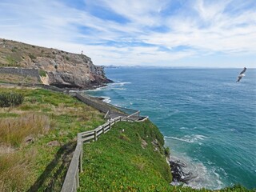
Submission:
<svg viewBox="0 0 256 192">
<path fill-rule="evenodd" d="M 197 175 L 194 175 L 191 171 L 189 173 L 185 173 L 182 170 L 182 167 L 186 167 L 185 162 L 181 162 L 179 160 L 172 161 L 170 160 L 171 174 L 173 175 L 173 180 L 171 182 L 172 185 L 177 186 L 179 182 L 188 183 L 192 178 L 196 178 Z"/>
</svg>

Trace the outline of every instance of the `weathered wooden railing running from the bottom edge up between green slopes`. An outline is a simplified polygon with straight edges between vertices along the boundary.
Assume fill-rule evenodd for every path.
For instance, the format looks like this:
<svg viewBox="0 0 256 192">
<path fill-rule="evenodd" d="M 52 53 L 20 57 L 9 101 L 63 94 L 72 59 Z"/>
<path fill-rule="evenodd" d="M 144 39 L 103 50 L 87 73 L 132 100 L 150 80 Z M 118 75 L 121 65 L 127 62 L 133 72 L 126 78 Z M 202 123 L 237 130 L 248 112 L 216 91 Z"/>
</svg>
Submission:
<svg viewBox="0 0 256 192">
<path fill-rule="evenodd" d="M 79 170 L 82 172 L 82 156 L 83 156 L 83 144 L 86 142 L 96 142 L 101 134 L 106 134 L 116 122 L 122 121 L 122 117 L 114 118 L 109 122 L 104 123 L 102 126 L 98 126 L 94 130 L 78 133 L 77 146 L 74 150 L 73 158 L 70 162 L 69 169 L 66 173 L 65 181 L 62 185 L 62 192 L 77 191 L 79 187 Z"/>
</svg>

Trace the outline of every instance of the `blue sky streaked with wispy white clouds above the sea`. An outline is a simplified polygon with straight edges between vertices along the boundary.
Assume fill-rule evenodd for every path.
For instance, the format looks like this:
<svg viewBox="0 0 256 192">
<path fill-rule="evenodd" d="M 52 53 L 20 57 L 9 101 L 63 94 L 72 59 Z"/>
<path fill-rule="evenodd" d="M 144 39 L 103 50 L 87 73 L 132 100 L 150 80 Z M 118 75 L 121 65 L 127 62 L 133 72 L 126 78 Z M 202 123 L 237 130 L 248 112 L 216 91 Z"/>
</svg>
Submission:
<svg viewBox="0 0 256 192">
<path fill-rule="evenodd" d="M 0 38 L 96 65 L 256 67 L 255 0 L 1 0 Z"/>
</svg>

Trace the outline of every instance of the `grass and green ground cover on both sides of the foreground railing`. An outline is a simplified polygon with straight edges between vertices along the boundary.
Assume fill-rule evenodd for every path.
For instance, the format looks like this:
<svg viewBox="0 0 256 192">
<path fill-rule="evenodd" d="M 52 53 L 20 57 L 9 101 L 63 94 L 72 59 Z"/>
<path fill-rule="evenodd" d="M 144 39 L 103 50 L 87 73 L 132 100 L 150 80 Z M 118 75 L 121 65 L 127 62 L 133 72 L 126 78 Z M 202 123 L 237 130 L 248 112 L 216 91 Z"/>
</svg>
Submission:
<svg viewBox="0 0 256 192">
<path fill-rule="evenodd" d="M 50 90 L 0 86 L 0 93 L 24 97 L 0 108 L 0 191 L 60 191 L 78 132 L 102 125 L 104 114 Z M 210 191 L 170 186 L 169 150 L 148 120 L 118 122 L 83 149 L 78 191 Z"/>
</svg>

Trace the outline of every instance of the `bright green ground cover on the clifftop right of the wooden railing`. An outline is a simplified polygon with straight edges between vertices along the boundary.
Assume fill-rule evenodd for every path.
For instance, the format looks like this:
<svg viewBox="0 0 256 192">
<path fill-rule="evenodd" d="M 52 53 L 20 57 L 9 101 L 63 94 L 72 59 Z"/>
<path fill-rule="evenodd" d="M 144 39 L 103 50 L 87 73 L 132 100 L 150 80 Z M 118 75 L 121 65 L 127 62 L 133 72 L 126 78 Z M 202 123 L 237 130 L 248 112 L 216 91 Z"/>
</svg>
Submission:
<svg viewBox="0 0 256 192">
<path fill-rule="evenodd" d="M 155 139 L 158 145 L 152 144 Z M 144 148 L 143 140 L 147 143 Z M 84 145 L 78 191 L 210 191 L 170 186 L 170 167 L 164 155 L 168 150 L 163 144 L 162 134 L 150 121 L 118 122 L 97 142 Z M 250 190 L 233 186 L 216 191 Z"/>
</svg>

